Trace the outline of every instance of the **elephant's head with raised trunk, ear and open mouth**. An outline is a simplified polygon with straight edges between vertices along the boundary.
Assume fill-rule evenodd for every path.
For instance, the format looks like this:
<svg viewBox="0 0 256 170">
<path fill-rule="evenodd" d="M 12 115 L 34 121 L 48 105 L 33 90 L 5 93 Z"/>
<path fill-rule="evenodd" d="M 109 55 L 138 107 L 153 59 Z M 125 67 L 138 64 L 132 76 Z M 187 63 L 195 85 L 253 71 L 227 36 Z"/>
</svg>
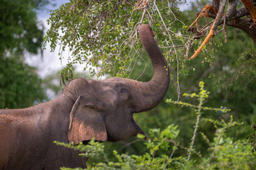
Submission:
<svg viewBox="0 0 256 170">
<path fill-rule="evenodd" d="M 152 79 L 140 82 L 115 77 L 104 81 L 80 78 L 71 81 L 62 92 L 74 101 L 69 114 L 69 142 L 76 145 L 92 138 L 118 141 L 144 134 L 133 113 L 149 111 L 162 101 L 169 87 L 169 69 L 150 26 L 140 26 L 139 35 L 152 62 Z"/>
</svg>

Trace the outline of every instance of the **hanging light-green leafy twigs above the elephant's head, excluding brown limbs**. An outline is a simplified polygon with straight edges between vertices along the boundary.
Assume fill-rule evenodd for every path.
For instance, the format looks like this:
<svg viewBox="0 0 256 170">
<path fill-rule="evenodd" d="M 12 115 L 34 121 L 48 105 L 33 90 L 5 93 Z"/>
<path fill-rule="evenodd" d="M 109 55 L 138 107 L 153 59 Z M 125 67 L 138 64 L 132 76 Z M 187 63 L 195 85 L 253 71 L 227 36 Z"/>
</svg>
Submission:
<svg viewBox="0 0 256 170">
<path fill-rule="evenodd" d="M 177 35 L 178 39 L 177 33 L 184 31 L 180 29 L 184 23 L 179 18 L 184 20 L 184 15 L 177 8 L 178 3 L 172 1 L 166 8 L 166 2 L 155 1 L 144 15 L 144 11 L 133 11 L 136 1 L 70 1 L 52 11 L 45 45 L 50 42 L 53 51 L 60 44 L 60 56 L 62 51 L 70 50 L 69 62 L 85 64 L 92 75 L 96 70 L 89 66 L 99 68 L 98 77 L 109 72 L 113 76 L 128 77 L 130 64 L 141 48 L 138 44 L 140 23 L 151 23 L 165 47 L 173 46 L 170 34 Z M 166 52 L 167 55 L 174 53 Z M 67 69 L 70 68 L 72 65 L 67 65 Z"/>
</svg>

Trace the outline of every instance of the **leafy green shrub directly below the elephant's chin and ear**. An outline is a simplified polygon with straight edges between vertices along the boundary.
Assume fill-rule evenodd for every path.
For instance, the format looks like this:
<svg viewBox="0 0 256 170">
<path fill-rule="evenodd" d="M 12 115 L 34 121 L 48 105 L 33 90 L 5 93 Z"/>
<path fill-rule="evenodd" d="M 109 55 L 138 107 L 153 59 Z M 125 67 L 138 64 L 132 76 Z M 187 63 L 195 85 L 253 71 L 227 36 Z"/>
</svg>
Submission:
<svg viewBox="0 0 256 170">
<path fill-rule="evenodd" d="M 112 169 L 169 169 L 169 167 L 182 167 L 182 164 L 186 162 L 186 159 L 182 157 L 174 158 L 174 152 L 178 149 L 178 143 L 175 142 L 176 137 L 179 135 L 177 125 L 169 125 L 165 130 L 151 129 L 149 132 L 149 140 L 145 142 L 148 152 L 143 155 L 128 155 L 118 154 L 116 150 L 113 150 L 113 155 L 116 157 L 116 162 L 108 161 L 106 154 L 104 154 L 104 144 L 94 142 L 91 140 L 89 145 L 82 145 L 80 143 L 77 146 L 71 144 L 65 144 L 62 142 L 55 142 L 57 145 L 77 149 L 84 157 L 101 157 L 101 162 L 92 164 L 88 169 L 94 170 L 112 170 Z M 138 138 L 143 140 L 144 135 L 138 135 Z M 169 150 L 170 154 L 162 154 L 161 157 L 155 157 L 157 151 Z M 69 168 L 61 168 L 63 170 L 69 170 Z"/>
</svg>

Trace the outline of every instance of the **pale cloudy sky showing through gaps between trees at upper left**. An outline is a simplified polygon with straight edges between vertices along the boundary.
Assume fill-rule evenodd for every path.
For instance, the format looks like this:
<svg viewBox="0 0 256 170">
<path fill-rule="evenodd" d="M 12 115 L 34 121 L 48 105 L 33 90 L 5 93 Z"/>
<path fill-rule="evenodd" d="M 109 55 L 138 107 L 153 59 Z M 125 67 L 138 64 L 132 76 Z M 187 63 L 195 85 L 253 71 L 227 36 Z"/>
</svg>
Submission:
<svg viewBox="0 0 256 170">
<path fill-rule="evenodd" d="M 47 19 L 50 17 L 50 10 L 54 10 L 59 8 L 62 4 L 69 2 L 69 0 L 56 0 L 53 1 L 53 4 L 45 6 L 45 10 L 37 11 L 38 13 L 38 21 L 42 22 L 45 26 L 45 33 L 50 28 L 47 24 Z M 57 46 L 56 49 L 60 49 L 60 46 Z M 67 59 L 69 52 L 63 52 L 63 57 Z M 30 55 L 30 57 L 26 57 L 26 63 L 30 66 L 38 68 L 38 75 L 41 78 L 47 77 L 49 74 L 56 73 L 67 64 L 67 60 L 60 61 L 60 56 L 58 55 L 58 50 L 55 52 L 50 52 L 50 44 L 46 46 L 46 50 L 43 50 L 43 57 L 41 55 Z M 81 65 L 76 65 L 77 72 L 82 72 L 83 67 Z"/>
</svg>

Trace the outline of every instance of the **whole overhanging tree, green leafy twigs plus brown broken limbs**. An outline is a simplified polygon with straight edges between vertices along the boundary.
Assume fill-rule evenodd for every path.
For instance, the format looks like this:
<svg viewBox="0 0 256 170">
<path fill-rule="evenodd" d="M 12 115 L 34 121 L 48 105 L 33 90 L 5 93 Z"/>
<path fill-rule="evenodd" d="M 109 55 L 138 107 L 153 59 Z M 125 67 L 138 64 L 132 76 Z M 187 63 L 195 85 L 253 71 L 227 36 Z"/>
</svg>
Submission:
<svg viewBox="0 0 256 170">
<path fill-rule="evenodd" d="M 55 50 L 56 45 L 60 44 L 60 55 L 64 50 L 72 52 L 67 69 L 72 63 L 83 63 L 86 65 L 85 69 L 89 68 L 92 74 L 96 73 L 98 76 L 113 71 L 113 76 L 127 77 L 129 70 L 133 68 L 130 63 L 135 59 L 134 54 L 141 47 L 137 35 L 141 23 L 149 23 L 152 26 L 163 53 L 170 63 L 176 60 L 175 64 L 178 67 L 180 67 L 179 62 L 183 64 L 187 61 L 184 59 L 191 56 L 189 55 L 191 47 L 202 44 L 198 39 L 204 37 L 209 30 L 210 33 L 212 32 L 211 36 L 223 30 L 226 37 L 226 25 L 233 26 L 244 30 L 255 42 L 256 34 L 253 33 L 256 30 L 255 19 L 250 16 L 250 11 L 245 6 L 240 7 L 238 1 L 223 1 L 220 4 L 220 1 L 213 0 L 212 5 L 208 6 L 211 6 L 215 12 L 211 13 L 211 10 L 204 8 L 201 15 L 197 15 L 202 17 L 202 14 L 207 13 L 207 16 L 214 18 L 215 22 L 206 20 L 204 23 L 206 26 L 201 30 L 199 27 L 187 26 L 188 17 L 179 10 L 179 6 L 184 3 L 183 1 L 70 1 L 52 11 L 48 20 L 51 27 L 45 37 L 45 45 L 50 42 L 51 50 Z M 223 14 L 225 6 L 228 8 L 226 14 Z M 197 7 L 196 10 L 200 11 L 200 8 Z M 217 13 L 220 13 L 218 21 Z M 247 19 L 244 19 L 244 16 L 247 16 Z M 220 28 L 224 21 L 225 24 Z M 214 28 L 211 29 L 212 27 Z M 187 33 L 187 28 L 192 34 Z M 214 43 L 217 42 L 211 42 Z M 211 44 L 208 46 L 205 44 L 202 52 L 207 62 L 211 62 L 214 57 L 214 47 Z M 222 44 L 223 42 L 218 42 L 218 46 Z M 97 67 L 97 72 L 88 67 L 89 65 Z"/>
</svg>

